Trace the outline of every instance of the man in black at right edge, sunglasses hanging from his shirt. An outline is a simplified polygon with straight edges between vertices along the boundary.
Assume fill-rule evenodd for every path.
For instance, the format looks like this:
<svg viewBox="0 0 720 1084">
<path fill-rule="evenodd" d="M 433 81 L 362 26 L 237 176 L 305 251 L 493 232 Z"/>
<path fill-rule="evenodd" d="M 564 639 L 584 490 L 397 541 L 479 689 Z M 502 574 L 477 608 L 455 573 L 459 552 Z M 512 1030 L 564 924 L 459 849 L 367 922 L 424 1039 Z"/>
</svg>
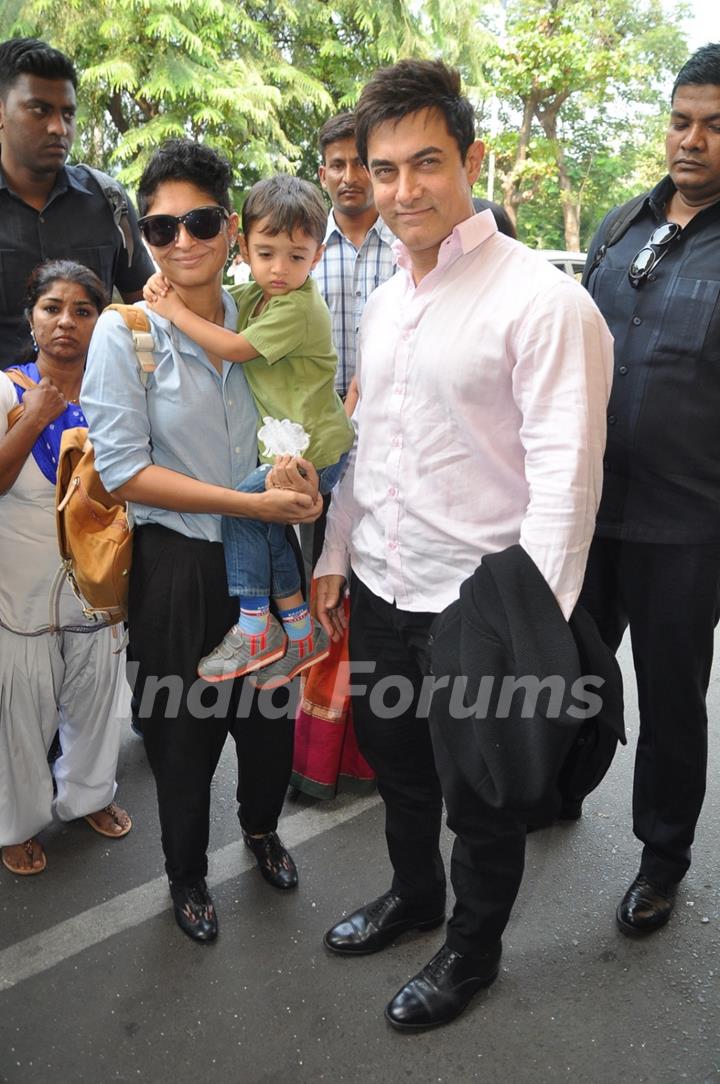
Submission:
<svg viewBox="0 0 720 1084">
<path fill-rule="evenodd" d="M 617 909 L 629 934 L 670 917 L 705 796 L 720 588 L 720 43 L 679 73 L 666 151 L 668 176 L 601 224 L 586 283 L 615 337 L 615 376 L 580 601 L 613 649 L 628 625 L 632 641 L 643 851 Z"/>
</svg>

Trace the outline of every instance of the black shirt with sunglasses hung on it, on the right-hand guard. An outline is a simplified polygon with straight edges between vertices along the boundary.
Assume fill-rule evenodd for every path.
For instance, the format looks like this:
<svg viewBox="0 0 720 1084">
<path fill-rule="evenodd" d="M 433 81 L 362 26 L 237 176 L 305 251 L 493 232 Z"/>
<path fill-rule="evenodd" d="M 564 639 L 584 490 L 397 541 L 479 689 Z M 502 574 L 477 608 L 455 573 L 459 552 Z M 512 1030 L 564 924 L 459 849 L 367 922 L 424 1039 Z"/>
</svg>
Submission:
<svg viewBox="0 0 720 1084">
<path fill-rule="evenodd" d="M 647 281 L 633 289 L 628 279 L 673 192 L 666 177 L 648 193 L 588 283 L 615 337 L 596 533 L 720 542 L 720 202 L 695 215 Z"/>
</svg>

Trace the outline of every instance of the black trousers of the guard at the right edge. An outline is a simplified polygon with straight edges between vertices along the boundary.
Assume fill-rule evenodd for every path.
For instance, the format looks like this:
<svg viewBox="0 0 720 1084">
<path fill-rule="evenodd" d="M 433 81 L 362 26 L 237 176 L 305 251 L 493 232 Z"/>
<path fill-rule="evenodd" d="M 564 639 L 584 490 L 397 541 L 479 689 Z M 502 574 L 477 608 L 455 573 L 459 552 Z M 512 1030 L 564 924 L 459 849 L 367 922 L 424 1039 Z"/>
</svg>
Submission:
<svg viewBox="0 0 720 1084">
<path fill-rule="evenodd" d="M 720 545 L 595 539 L 580 601 L 617 650 L 630 625 L 640 733 L 632 793 L 641 873 L 687 872 L 705 797 L 705 698 L 718 623 Z"/>
</svg>

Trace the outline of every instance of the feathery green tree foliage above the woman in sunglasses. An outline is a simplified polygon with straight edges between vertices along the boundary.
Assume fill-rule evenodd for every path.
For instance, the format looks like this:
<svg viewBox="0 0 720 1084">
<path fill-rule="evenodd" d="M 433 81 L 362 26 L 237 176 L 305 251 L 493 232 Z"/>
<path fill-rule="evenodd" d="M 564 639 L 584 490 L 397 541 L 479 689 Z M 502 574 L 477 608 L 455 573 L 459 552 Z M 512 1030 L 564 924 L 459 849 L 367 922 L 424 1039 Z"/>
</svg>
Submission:
<svg viewBox="0 0 720 1084">
<path fill-rule="evenodd" d="M 268 7 L 274 20 L 296 21 L 292 2 Z M 189 136 L 211 139 L 246 186 L 297 160 L 285 109 L 333 106 L 322 81 L 283 54 L 261 3 L 29 0 L 14 29 L 44 37 L 75 60 L 82 156 L 121 167 L 130 182 L 154 146 Z"/>
</svg>

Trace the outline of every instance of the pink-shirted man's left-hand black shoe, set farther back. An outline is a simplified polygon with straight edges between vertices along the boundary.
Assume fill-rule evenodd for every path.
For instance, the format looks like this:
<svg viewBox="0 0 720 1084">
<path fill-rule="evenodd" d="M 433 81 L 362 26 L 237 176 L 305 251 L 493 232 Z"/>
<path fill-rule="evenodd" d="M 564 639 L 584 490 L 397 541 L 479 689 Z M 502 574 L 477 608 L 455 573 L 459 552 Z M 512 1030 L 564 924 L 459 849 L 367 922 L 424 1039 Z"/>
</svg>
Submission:
<svg viewBox="0 0 720 1084">
<path fill-rule="evenodd" d="M 368 956 L 408 930 L 432 930 L 445 921 L 445 904 L 430 912 L 386 892 L 327 930 L 323 944 L 340 956 Z"/>
</svg>

